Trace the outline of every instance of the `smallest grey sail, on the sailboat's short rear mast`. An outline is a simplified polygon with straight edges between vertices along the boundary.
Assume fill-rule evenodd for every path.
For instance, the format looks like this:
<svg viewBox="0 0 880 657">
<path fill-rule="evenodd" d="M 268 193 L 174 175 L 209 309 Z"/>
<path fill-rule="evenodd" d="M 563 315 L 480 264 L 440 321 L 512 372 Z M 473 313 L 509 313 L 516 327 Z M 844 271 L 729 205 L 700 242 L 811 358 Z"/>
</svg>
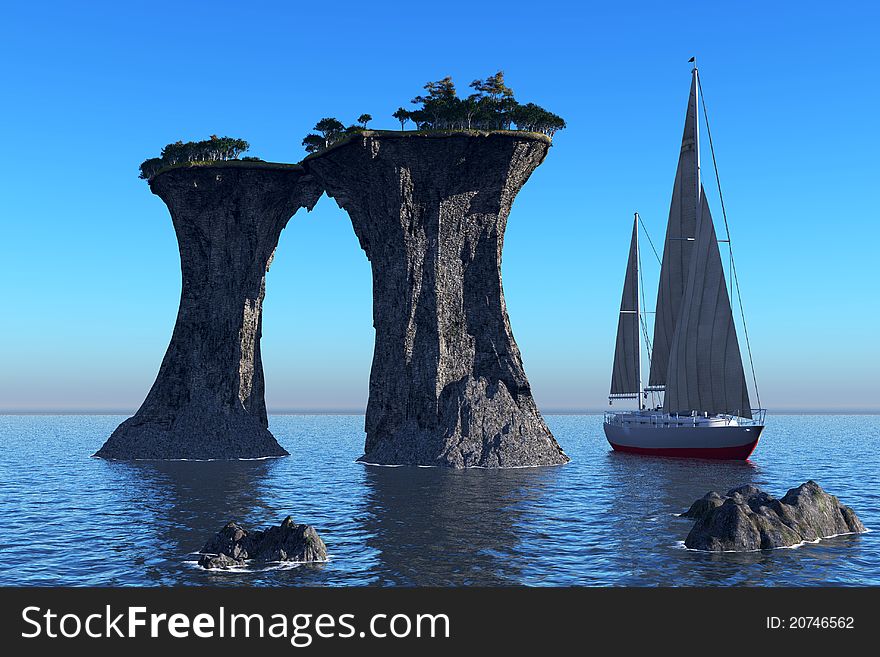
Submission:
<svg viewBox="0 0 880 657">
<path fill-rule="evenodd" d="M 629 259 L 620 300 L 617 322 L 617 345 L 614 347 L 614 369 L 611 373 L 612 395 L 638 395 L 641 387 L 639 372 L 639 234 L 638 218 L 633 220 Z"/>
</svg>

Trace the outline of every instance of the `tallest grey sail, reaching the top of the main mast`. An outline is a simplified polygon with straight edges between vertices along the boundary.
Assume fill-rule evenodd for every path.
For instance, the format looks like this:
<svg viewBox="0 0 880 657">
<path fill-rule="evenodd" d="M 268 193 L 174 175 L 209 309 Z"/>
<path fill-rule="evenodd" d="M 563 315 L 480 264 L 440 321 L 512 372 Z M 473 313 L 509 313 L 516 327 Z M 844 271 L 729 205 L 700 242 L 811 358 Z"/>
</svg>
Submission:
<svg viewBox="0 0 880 657">
<path fill-rule="evenodd" d="M 672 186 L 672 203 L 669 206 L 669 223 L 666 225 L 666 241 L 663 245 L 663 261 L 660 266 L 651 373 L 648 378 L 648 384 L 652 386 L 662 386 L 666 383 L 669 349 L 681 310 L 681 298 L 687 285 L 688 268 L 694 245 L 692 240 L 697 230 L 698 149 L 695 73 L 691 80 L 691 94 L 688 98 L 675 183 Z"/>
</svg>

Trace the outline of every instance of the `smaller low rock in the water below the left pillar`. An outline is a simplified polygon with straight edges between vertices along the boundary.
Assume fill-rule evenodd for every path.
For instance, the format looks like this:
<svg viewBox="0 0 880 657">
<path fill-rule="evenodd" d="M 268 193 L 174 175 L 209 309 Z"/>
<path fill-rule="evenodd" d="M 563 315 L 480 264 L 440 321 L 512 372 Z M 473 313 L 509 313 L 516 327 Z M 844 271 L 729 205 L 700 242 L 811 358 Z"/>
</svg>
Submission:
<svg viewBox="0 0 880 657">
<path fill-rule="evenodd" d="M 311 525 L 297 525 L 290 516 L 278 527 L 249 532 L 230 522 L 200 551 L 203 568 L 242 566 L 248 561 L 327 561 L 327 546 Z"/>
</svg>

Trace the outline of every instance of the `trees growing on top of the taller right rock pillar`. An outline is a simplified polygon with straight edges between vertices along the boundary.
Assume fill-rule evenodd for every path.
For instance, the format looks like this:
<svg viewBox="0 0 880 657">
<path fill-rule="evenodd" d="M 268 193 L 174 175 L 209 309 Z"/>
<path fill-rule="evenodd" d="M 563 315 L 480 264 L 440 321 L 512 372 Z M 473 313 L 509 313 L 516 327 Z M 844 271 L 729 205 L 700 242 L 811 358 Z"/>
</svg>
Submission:
<svg viewBox="0 0 880 657">
<path fill-rule="evenodd" d="M 428 82 L 425 93 L 410 101 L 415 107 L 399 107 L 392 117 L 406 129 L 411 121 L 416 130 L 524 130 L 539 132 L 551 139 L 565 128 L 565 121 L 534 103 L 520 105 L 513 89 L 504 81 L 504 71 L 498 71 L 485 80 L 474 80 L 468 85 L 472 93 L 459 97 L 452 78 Z M 367 129 L 373 120 L 361 114 L 357 123 L 347 128 L 334 118 L 324 118 L 315 125 L 314 133 L 306 135 L 303 146 L 316 153 L 332 146 L 340 139 Z"/>
</svg>

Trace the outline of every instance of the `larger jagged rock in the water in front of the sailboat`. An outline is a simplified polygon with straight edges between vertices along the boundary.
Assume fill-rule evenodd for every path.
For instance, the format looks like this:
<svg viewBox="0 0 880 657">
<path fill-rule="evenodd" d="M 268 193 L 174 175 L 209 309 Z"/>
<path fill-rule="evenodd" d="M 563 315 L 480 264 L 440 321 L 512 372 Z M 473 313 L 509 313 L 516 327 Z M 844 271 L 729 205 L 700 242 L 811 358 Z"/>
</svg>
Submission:
<svg viewBox="0 0 880 657">
<path fill-rule="evenodd" d="M 769 550 L 866 531 L 852 509 L 812 480 L 782 499 L 755 486 L 734 488 L 724 496 L 707 493 L 682 517 L 697 520 L 685 546 L 712 552 Z"/>
</svg>

